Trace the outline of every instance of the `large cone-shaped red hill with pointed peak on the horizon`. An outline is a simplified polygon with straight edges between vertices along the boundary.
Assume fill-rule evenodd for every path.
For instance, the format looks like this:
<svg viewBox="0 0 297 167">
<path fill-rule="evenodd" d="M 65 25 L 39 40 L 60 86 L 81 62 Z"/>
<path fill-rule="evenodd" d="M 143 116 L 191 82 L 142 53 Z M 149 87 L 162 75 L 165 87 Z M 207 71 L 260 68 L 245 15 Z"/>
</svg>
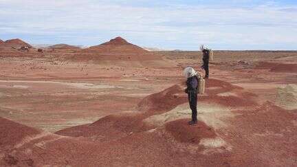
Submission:
<svg viewBox="0 0 297 167">
<path fill-rule="evenodd" d="M 75 61 L 92 61 L 104 66 L 120 67 L 175 67 L 173 63 L 164 60 L 162 56 L 128 43 L 121 37 L 111 39 L 107 43 L 81 49 L 65 58 Z"/>
</svg>

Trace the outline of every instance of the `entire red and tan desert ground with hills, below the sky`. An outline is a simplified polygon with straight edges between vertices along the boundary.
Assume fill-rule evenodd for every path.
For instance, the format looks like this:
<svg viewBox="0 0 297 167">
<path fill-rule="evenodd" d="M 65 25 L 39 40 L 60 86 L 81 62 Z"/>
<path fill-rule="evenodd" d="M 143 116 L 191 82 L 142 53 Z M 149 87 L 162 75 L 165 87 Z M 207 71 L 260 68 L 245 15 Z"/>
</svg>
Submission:
<svg viewBox="0 0 297 167">
<path fill-rule="evenodd" d="M 297 52 L 214 50 L 195 126 L 201 52 L 12 39 L 0 59 L 0 166 L 297 166 Z"/>
</svg>

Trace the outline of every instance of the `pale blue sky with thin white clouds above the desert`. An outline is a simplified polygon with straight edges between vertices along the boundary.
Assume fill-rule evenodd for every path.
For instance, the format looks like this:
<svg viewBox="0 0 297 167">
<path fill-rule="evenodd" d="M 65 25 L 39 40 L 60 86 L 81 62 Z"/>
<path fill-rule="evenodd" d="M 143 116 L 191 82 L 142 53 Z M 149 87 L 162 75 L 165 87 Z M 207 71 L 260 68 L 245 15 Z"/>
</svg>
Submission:
<svg viewBox="0 0 297 167">
<path fill-rule="evenodd" d="M 142 47 L 297 49 L 296 0 L 0 0 L 0 39 Z"/>
</svg>

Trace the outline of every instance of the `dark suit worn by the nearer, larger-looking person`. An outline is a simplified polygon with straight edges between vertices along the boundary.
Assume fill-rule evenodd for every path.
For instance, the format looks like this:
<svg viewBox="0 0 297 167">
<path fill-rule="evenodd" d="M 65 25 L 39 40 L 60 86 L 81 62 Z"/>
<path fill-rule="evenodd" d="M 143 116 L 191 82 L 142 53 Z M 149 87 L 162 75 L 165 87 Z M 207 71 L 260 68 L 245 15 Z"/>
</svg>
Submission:
<svg viewBox="0 0 297 167">
<path fill-rule="evenodd" d="M 192 120 L 197 121 L 197 76 L 192 76 L 188 78 L 188 80 L 186 81 L 186 85 L 186 93 L 188 93 L 188 101 L 190 104 L 190 109 L 192 110 Z"/>
</svg>

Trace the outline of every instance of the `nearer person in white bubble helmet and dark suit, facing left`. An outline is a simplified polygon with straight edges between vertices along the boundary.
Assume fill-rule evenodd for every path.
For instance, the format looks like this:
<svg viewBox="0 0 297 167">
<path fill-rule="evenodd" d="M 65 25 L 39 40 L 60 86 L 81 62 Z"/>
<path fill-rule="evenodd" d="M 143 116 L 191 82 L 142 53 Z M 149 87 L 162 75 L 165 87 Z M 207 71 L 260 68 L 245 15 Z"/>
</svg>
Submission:
<svg viewBox="0 0 297 167">
<path fill-rule="evenodd" d="M 198 93 L 198 74 L 192 67 L 186 67 L 184 69 L 184 75 L 186 76 L 185 93 L 188 94 L 188 101 L 190 109 L 192 110 L 192 120 L 188 124 L 197 124 L 197 93 Z"/>
</svg>

